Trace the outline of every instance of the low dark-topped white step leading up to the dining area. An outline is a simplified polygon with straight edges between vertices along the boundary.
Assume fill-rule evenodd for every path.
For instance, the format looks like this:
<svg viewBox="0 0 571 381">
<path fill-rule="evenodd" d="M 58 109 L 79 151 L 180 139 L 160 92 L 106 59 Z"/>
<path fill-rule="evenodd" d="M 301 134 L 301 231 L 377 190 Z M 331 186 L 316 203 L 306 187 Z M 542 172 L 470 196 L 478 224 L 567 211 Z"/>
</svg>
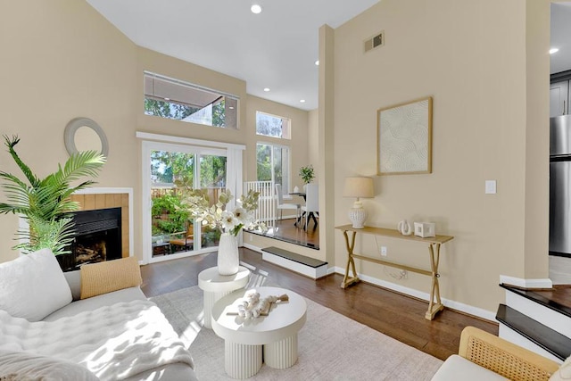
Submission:
<svg viewBox="0 0 571 381">
<path fill-rule="evenodd" d="M 299 274 L 313 279 L 327 275 L 327 262 L 315 258 L 292 253 L 279 247 L 266 247 L 261 249 L 261 259 L 277 264 L 285 269 L 291 269 Z"/>
</svg>

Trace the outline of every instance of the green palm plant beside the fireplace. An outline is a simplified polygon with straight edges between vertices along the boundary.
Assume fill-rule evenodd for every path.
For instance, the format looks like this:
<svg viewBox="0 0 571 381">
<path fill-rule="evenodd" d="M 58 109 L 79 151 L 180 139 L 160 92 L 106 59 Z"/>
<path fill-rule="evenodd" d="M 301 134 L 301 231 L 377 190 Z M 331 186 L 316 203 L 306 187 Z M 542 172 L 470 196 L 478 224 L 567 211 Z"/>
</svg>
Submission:
<svg viewBox="0 0 571 381">
<path fill-rule="evenodd" d="M 24 242 L 13 248 L 21 249 L 22 253 L 43 248 L 51 249 L 55 255 L 69 253 L 66 247 L 73 240 L 75 224 L 68 213 L 79 209 L 78 203 L 70 201 L 70 195 L 91 186 L 94 181 L 85 180 L 76 186 L 71 186 L 71 183 L 80 178 L 97 176 L 105 162 L 104 156 L 96 151 L 74 153 L 63 167 L 58 165 L 54 173 L 46 178 L 38 178 L 14 150 L 20 138 L 4 136 L 4 141 L 24 178 L 0 171 L 0 181 L 7 199 L 7 203 L 0 203 L 0 214 L 19 214 L 29 226 L 28 229 L 18 230 L 16 236 L 23 238 Z"/>
</svg>

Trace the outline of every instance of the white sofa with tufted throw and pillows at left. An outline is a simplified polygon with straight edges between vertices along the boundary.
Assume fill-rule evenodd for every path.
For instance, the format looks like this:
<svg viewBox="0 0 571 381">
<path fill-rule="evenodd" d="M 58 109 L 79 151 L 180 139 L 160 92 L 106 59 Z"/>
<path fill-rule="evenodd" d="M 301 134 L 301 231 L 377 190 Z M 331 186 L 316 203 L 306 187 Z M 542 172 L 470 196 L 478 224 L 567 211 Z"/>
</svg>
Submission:
<svg viewBox="0 0 571 381">
<path fill-rule="evenodd" d="M 49 251 L 0 263 L 0 379 L 195 380 L 140 284 L 135 258 L 68 273 Z"/>
</svg>

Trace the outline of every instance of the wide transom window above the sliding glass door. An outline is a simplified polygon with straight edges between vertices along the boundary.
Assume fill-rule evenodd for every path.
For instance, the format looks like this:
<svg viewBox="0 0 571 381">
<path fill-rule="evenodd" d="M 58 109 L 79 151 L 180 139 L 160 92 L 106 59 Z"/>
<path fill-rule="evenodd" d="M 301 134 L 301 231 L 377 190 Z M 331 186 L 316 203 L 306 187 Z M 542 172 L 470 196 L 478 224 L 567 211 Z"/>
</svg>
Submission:
<svg viewBox="0 0 571 381">
<path fill-rule="evenodd" d="M 145 114 L 237 128 L 238 97 L 145 72 Z"/>
</svg>

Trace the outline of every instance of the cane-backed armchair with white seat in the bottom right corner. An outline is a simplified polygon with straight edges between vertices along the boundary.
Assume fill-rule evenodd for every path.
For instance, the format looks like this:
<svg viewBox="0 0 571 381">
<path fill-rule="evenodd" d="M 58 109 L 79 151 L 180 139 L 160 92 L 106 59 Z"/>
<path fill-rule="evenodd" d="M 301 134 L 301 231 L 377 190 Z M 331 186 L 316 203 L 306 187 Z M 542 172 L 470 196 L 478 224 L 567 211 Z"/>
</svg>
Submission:
<svg viewBox="0 0 571 381">
<path fill-rule="evenodd" d="M 571 379 L 571 358 L 561 366 L 476 327 L 460 336 L 459 354 L 446 359 L 433 381 L 562 381 Z"/>
</svg>

